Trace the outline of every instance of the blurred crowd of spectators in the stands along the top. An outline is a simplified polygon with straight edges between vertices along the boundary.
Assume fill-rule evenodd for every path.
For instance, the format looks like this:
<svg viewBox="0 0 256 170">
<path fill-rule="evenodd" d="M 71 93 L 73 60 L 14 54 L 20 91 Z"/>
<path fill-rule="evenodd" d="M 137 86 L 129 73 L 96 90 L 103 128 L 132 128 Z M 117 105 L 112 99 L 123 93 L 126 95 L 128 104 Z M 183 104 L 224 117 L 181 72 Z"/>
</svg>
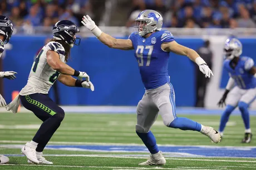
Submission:
<svg viewBox="0 0 256 170">
<path fill-rule="evenodd" d="M 81 25 L 89 14 L 98 25 L 132 27 L 144 9 L 164 17 L 164 27 L 255 28 L 256 0 L 0 0 L 0 14 L 14 25 L 50 27 L 58 20 Z"/>
</svg>

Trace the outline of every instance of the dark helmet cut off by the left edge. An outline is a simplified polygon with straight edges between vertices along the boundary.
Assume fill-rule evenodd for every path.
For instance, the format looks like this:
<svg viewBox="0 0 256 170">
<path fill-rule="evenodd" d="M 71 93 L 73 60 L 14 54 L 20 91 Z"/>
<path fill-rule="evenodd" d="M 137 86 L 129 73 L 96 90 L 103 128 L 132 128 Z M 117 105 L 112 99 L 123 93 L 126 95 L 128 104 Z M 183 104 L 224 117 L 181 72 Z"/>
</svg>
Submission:
<svg viewBox="0 0 256 170">
<path fill-rule="evenodd" d="M 13 24 L 6 16 L 0 16 L 0 34 L 4 36 L 3 43 L 7 44 L 12 37 Z"/>
</svg>

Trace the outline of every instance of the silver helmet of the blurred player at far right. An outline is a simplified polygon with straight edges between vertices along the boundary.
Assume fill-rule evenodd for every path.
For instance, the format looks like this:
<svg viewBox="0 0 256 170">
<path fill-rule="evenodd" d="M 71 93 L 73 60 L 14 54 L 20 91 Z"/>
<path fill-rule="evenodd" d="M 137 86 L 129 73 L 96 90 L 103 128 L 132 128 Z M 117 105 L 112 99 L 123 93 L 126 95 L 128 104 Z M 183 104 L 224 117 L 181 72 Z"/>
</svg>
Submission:
<svg viewBox="0 0 256 170">
<path fill-rule="evenodd" d="M 224 59 L 232 60 L 242 54 L 243 45 L 237 38 L 228 38 L 224 47 Z"/>
</svg>

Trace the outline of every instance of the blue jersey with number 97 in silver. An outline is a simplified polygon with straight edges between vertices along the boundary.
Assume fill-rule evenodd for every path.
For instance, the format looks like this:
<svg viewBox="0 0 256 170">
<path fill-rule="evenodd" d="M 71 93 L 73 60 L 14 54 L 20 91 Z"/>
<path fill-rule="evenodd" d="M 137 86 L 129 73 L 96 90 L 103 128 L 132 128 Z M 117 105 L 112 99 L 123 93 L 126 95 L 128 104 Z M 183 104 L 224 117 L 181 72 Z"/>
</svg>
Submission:
<svg viewBox="0 0 256 170">
<path fill-rule="evenodd" d="M 144 38 L 131 33 L 129 39 L 134 47 L 134 56 L 138 61 L 145 89 L 155 89 L 168 83 L 169 52 L 161 49 L 161 44 L 172 42 L 173 34 L 167 30 L 160 30 Z"/>
</svg>

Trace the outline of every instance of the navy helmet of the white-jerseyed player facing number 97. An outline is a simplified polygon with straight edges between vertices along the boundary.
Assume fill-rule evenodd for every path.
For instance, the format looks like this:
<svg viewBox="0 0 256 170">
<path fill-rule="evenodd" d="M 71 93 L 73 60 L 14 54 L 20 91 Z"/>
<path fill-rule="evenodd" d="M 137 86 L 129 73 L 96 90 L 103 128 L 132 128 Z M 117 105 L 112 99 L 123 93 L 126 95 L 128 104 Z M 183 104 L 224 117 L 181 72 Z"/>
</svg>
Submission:
<svg viewBox="0 0 256 170">
<path fill-rule="evenodd" d="M 75 38 L 75 34 L 80 32 L 77 25 L 70 20 L 58 21 L 52 29 L 53 37 L 58 40 L 65 40 L 71 47 L 80 45 L 80 38 Z"/>
</svg>

